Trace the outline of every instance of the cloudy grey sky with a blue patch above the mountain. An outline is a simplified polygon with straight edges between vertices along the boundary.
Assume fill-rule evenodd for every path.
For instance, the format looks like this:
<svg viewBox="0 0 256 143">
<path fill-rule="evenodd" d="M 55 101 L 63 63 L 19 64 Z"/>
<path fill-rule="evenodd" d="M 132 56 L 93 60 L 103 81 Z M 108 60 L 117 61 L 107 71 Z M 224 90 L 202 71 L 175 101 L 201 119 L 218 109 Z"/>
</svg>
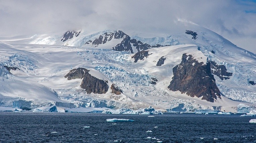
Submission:
<svg viewBox="0 0 256 143">
<path fill-rule="evenodd" d="M 85 29 L 172 34 L 183 19 L 256 53 L 256 0 L 0 0 L 0 36 Z"/>
</svg>

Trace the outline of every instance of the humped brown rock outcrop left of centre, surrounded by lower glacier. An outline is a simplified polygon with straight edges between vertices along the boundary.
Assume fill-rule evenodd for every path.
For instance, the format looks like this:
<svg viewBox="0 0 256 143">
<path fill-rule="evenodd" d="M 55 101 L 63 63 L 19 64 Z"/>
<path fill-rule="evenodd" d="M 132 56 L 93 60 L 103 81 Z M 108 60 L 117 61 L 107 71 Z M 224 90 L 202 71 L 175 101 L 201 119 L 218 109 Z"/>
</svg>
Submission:
<svg viewBox="0 0 256 143">
<path fill-rule="evenodd" d="M 106 81 L 92 76 L 91 74 L 89 74 L 89 70 L 85 68 L 73 69 L 69 71 L 67 75 L 65 75 L 65 78 L 68 78 L 68 80 L 83 78 L 80 87 L 85 89 L 85 91 L 89 94 L 91 92 L 103 94 L 106 93 L 108 90 L 108 85 Z"/>
</svg>

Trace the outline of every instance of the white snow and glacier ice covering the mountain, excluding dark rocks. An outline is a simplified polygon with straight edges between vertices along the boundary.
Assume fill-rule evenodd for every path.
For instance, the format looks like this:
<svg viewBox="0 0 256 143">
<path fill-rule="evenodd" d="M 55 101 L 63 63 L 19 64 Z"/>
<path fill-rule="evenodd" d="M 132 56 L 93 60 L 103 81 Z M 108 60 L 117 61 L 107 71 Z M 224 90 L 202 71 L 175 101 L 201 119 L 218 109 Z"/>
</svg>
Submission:
<svg viewBox="0 0 256 143">
<path fill-rule="evenodd" d="M 197 38 L 192 39 L 193 36 L 186 34 L 185 30 L 196 32 Z M 62 111 L 64 108 L 77 108 L 70 109 L 70 112 L 79 112 L 79 108 L 86 110 L 86 107 L 111 108 L 113 113 L 113 109 L 137 110 L 149 106 L 170 112 L 219 110 L 249 113 L 255 108 L 256 85 L 249 81 L 256 82 L 256 55 L 208 29 L 190 25 L 181 33 L 165 37 L 130 35 L 150 45 L 164 46 L 148 49 L 149 56 L 136 63 L 132 59 L 135 54 L 111 50 L 122 39 L 97 46 L 85 45 L 99 35 L 115 31 L 95 34 L 80 31 L 79 36 L 65 42 L 61 41 L 63 33 L 1 38 L 0 106 L 29 108 L 35 112 L 58 111 L 58 108 L 63 108 Z M 230 79 L 226 80 L 214 75 L 224 96 L 208 102 L 167 88 L 174 76 L 172 69 L 180 64 L 184 53 L 192 55 L 199 63 L 214 61 L 232 72 Z M 166 58 L 164 64 L 156 66 L 161 57 Z M 18 69 L 9 73 L 4 66 Z M 80 87 L 82 79 L 68 80 L 64 77 L 76 68 L 88 69 L 92 76 L 107 81 L 107 93 L 88 94 Z M 151 83 L 152 78 L 157 79 L 156 84 Z M 113 83 L 122 90 L 122 94 L 111 93 Z"/>
</svg>

